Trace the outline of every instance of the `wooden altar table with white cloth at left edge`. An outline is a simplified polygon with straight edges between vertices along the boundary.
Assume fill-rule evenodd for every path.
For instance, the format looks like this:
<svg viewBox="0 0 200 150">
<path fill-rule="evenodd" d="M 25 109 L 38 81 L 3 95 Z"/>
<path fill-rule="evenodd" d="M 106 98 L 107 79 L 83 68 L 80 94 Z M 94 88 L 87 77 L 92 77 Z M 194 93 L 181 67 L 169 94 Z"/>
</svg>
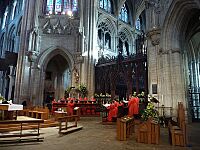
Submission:
<svg viewBox="0 0 200 150">
<path fill-rule="evenodd" d="M 13 120 L 14 111 L 23 110 L 23 105 L 20 104 L 0 104 L 0 120 Z"/>
</svg>

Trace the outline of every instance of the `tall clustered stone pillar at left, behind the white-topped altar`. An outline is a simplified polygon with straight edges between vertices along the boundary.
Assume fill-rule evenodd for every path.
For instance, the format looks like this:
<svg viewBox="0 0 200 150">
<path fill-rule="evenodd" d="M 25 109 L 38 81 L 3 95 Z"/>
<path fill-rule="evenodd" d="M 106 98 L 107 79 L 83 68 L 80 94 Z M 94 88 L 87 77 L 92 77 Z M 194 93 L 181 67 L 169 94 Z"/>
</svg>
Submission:
<svg viewBox="0 0 200 150">
<path fill-rule="evenodd" d="M 16 82 L 15 82 L 15 100 L 21 103 L 24 100 L 28 100 L 29 93 L 27 92 L 28 83 L 28 68 L 29 63 L 27 61 L 26 52 L 28 51 L 29 32 L 33 27 L 34 15 L 35 15 L 35 2 L 32 0 L 24 1 L 24 10 L 22 17 L 20 46 L 17 60 L 16 69 Z"/>
</svg>

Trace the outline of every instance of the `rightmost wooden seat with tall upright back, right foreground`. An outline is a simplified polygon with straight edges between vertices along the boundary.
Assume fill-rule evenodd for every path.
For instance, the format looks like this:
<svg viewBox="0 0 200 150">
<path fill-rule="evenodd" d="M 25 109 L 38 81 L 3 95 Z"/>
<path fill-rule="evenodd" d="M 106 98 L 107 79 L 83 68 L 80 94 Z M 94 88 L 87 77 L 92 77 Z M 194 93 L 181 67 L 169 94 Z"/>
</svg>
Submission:
<svg viewBox="0 0 200 150">
<path fill-rule="evenodd" d="M 178 103 L 177 122 L 171 120 L 169 122 L 169 138 L 172 145 L 187 145 L 187 128 L 185 122 L 185 109 L 183 103 Z"/>
</svg>

